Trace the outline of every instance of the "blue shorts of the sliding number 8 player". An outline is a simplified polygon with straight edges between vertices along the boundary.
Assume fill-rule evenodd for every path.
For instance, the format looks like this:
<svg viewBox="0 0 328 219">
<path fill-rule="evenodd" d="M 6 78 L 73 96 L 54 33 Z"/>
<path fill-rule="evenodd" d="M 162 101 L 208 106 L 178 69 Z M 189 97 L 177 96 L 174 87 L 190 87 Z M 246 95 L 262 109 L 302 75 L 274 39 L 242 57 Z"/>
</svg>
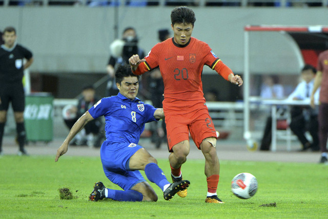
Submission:
<svg viewBox="0 0 328 219">
<path fill-rule="evenodd" d="M 131 189 L 140 182 L 146 182 L 139 170 L 129 170 L 130 157 L 142 147 L 128 143 L 105 141 L 100 148 L 100 158 L 107 178 L 124 190 Z"/>
</svg>

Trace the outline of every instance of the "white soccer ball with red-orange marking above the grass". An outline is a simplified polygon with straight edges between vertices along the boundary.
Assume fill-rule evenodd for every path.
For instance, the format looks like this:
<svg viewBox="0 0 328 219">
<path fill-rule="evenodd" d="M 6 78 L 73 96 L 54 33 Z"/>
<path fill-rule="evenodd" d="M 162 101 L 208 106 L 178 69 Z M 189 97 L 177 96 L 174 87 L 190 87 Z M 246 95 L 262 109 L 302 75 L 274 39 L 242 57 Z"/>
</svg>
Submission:
<svg viewBox="0 0 328 219">
<path fill-rule="evenodd" d="M 239 198 L 248 199 L 257 191 L 257 180 L 251 173 L 239 173 L 231 182 L 231 191 Z"/>
</svg>

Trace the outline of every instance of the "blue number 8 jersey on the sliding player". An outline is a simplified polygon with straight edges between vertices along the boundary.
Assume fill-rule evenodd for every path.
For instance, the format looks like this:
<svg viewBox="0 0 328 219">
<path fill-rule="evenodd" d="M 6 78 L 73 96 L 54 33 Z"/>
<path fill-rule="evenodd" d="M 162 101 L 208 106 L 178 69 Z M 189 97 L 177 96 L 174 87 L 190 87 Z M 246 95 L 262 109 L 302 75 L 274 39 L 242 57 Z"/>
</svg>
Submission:
<svg viewBox="0 0 328 219">
<path fill-rule="evenodd" d="M 138 144 L 145 124 L 155 121 L 157 108 L 144 104 L 137 97 L 131 99 L 118 93 L 117 96 L 100 99 L 89 113 L 93 118 L 105 116 L 106 138 L 108 143 Z"/>
</svg>

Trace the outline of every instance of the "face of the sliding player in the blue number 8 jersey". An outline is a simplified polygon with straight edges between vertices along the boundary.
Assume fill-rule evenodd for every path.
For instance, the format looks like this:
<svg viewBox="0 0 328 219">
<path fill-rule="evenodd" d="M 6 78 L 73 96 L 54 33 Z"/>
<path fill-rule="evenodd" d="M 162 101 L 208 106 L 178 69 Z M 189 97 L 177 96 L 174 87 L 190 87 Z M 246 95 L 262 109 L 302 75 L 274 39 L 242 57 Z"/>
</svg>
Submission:
<svg viewBox="0 0 328 219">
<path fill-rule="evenodd" d="M 121 84 L 116 83 L 116 86 L 119 92 L 129 99 L 134 99 L 138 94 L 139 82 L 137 77 L 124 77 Z"/>
</svg>

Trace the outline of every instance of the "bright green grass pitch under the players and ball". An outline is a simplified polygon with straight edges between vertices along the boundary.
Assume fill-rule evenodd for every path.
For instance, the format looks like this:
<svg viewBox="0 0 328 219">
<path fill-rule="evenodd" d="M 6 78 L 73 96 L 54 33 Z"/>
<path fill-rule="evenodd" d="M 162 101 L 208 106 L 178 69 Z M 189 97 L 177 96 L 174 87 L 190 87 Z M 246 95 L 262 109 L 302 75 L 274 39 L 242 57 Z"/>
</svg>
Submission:
<svg viewBox="0 0 328 219">
<path fill-rule="evenodd" d="M 158 160 L 170 176 L 168 160 Z M 191 182 L 188 196 L 155 203 L 104 200 L 90 202 L 96 181 L 109 182 L 99 157 L 0 157 L 0 218 L 327 218 L 328 166 L 308 163 L 221 161 L 218 196 L 226 204 L 205 203 L 207 184 L 203 160 L 188 160 L 183 177 Z M 258 191 L 249 200 L 234 196 L 232 178 L 240 172 L 257 177 Z M 141 171 L 144 174 L 144 171 Z M 145 176 L 145 175 L 144 175 Z M 58 189 L 70 188 L 74 198 L 61 200 Z M 260 205 L 276 203 L 276 207 Z"/>
</svg>

